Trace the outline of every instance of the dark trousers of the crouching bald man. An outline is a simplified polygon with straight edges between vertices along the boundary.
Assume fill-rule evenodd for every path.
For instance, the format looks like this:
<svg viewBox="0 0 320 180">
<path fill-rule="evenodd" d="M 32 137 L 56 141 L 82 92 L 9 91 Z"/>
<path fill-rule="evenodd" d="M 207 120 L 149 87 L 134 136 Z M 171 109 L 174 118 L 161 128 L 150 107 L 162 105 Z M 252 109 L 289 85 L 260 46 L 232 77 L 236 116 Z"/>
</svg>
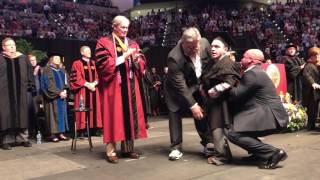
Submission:
<svg viewBox="0 0 320 180">
<path fill-rule="evenodd" d="M 228 139 L 233 144 L 247 150 L 249 154 L 268 160 L 278 150 L 278 148 L 263 143 L 258 139 L 258 137 L 263 135 L 265 134 L 260 134 L 258 132 L 235 132 L 234 129 L 231 129 L 228 133 Z"/>
</svg>

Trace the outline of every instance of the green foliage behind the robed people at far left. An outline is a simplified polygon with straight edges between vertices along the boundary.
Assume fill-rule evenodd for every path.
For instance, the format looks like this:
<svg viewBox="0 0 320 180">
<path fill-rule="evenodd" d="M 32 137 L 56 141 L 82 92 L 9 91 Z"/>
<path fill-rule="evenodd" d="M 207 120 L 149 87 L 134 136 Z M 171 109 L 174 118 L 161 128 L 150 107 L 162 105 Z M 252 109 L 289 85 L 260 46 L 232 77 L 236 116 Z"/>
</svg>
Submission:
<svg viewBox="0 0 320 180">
<path fill-rule="evenodd" d="M 33 49 L 32 44 L 25 39 L 16 40 L 16 45 L 17 45 L 17 51 L 25 55 L 28 55 L 28 54 L 35 55 L 38 62 L 42 62 L 48 58 L 46 52 Z"/>
</svg>

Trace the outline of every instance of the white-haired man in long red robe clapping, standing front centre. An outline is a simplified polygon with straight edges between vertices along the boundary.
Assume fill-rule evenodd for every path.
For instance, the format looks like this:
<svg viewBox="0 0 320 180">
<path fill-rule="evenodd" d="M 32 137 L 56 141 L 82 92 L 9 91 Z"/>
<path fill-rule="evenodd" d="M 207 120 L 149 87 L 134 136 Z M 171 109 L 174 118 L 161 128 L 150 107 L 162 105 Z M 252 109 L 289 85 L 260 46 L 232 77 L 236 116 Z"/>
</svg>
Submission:
<svg viewBox="0 0 320 180">
<path fill-rule="evenodd" d="M 118 162 L 117 142 L 121 141 L 123 157 L 138 159 L 133 141 L 147 137 L 139 88 L 145 62 L 139 56 L 139 45 L 126 37 L 129 23 L 126 17 L 116 16 L 112 21 L 112 34 L 100 38 L 96 46 L 103 137 L 110 163 Z"/>
</svg>

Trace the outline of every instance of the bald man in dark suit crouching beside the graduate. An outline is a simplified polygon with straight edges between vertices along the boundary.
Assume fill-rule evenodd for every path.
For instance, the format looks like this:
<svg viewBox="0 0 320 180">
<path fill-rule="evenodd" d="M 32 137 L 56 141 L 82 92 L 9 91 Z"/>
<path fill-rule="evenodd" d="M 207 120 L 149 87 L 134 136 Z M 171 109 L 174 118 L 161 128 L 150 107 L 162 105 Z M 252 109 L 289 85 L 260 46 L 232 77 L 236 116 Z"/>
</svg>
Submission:
<svg viewBox="0 0 320 180">
<path fill-rule="evenodd" d="M 263 60 L 263 53 L 258 49 L 246 51 L 241 59 L 244 74 L 239 86 L 230 91 L 235 112 L 228 138 L 253 156 L 265 160 L 260 168 L 274 169 L 287 154 L 261 142 L 258 137 L 286 127 L 288 115 L 274 84 L 259 65 Z"/>
</svg>

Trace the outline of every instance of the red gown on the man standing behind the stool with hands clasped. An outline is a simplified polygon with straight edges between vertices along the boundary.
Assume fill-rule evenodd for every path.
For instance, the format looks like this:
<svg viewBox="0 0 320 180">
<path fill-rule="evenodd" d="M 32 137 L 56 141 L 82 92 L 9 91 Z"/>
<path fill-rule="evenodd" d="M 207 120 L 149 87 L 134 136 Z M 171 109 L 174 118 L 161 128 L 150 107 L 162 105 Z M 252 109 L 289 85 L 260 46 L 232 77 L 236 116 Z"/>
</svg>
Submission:
<svg viewBox="0 0 320 180">
<path fill-rule="evenodd" d="M 84 86 L 86 82 L 99 82 L 95 62 L 90 60 L 76 60 L 72 64 L 70 75 L 70 87 L 74 92 L 74 108 L 80 107 L 80 96 L 84 101 L 84 106 L 90 108 L 90 112 L 76 112 L 75 118 L 77 129 L 85 129 L 86 118 L 89 117 L 90 128 L 102 128 L 100 94 L 98 89 L 91 91 Z"/>
</svg>

